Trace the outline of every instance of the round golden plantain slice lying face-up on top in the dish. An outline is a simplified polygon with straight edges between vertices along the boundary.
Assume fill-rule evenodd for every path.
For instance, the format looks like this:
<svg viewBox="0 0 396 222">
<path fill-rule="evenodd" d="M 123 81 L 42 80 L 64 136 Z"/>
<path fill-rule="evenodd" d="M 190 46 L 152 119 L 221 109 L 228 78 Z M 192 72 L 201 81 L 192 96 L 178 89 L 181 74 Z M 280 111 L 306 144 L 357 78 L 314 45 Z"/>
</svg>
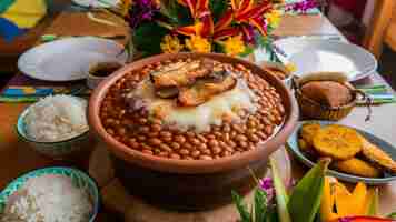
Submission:
<svg viewBox="0 0 396 222">
<path fill-rule="evenodd" d="M 314 137 L 314 148 L 324 157 L 347 160 L 362 151 L 362 140 L 355 130 L 331 124 L 321 128 L 316 133 Z"/>
</svg>

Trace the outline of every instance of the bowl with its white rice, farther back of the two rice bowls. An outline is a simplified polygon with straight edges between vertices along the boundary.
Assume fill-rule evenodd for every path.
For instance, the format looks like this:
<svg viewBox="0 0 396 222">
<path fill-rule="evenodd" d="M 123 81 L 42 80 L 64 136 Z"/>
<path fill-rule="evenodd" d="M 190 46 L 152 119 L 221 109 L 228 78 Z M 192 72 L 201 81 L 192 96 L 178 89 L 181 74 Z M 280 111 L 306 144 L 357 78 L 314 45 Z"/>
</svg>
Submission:
<svg viewBox="0 0 396 222">
<path fill-rule="evenodd" d="M 87 100 L 72 95 L 49 95 L 28 107 L 18 118 L 17 132 L 39 153 L 67 160 L 89 153 Z M 87 157 L 88 158 L 88 157 Z"/>
</svg>

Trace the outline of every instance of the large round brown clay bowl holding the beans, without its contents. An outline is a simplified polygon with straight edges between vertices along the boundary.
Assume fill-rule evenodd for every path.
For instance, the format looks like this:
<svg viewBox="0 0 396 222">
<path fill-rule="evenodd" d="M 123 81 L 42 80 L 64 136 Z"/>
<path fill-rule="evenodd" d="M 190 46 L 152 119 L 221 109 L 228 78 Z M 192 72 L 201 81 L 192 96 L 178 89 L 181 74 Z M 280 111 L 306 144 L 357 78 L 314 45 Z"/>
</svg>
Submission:
<svg viewBox="0 0 396 222">
<path fill-rule="evenodd" d="M 218 160 L 171 160 L 143 154 L 118 142 L 108 134 L 99 118 L 101 102 L 109 88 L 131 70 L 147 64 L 179 58 L 210 58 L 227 63 L 240 63 L 274 85 L 284 101 L 286 119 L 277 133 L 258 149 Z M 90 129 L 107 144 L 117 178 L 130 191 L 146 201 L 178 210 L 202 210 L 229 203 L 231 190 L 241 194 L 255 186 L 250 168 L 258 176 L 267 170 L 268 157 L 286 143 L 298 119 L 298 105 L 287 87 L 259 67 L 236 58 L 215 53 L 160 54 L 126 65 L 102 81 L 89 101 Z"/>
</svg>

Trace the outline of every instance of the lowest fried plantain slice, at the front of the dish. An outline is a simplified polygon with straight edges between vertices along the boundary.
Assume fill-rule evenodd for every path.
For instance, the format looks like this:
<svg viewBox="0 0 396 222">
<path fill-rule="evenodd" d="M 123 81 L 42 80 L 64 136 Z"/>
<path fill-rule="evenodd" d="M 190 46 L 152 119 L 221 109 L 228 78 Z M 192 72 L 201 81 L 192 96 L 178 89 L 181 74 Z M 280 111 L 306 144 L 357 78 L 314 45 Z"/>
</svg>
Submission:
<svg viewBox="0 0 396 222">
<path fill-rule="evenodd" d="M 378 169 L 357 158 L 337 161 L 334 167 L 341 172 L 365 178 L 379 178 L 382 175 Z"/>
</svg>

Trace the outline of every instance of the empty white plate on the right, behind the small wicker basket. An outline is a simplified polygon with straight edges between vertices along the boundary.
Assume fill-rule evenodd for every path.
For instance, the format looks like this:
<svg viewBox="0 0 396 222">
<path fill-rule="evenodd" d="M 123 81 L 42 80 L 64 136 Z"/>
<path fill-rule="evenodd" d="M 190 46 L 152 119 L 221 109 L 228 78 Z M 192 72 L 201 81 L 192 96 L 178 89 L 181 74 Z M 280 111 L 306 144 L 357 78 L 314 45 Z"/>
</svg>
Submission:
<svg viewBox="0 0 396 222">
<path fill-rule="evenodd" d="M 344 72 L 349 81 L 356 81 L 373 74 L 378 65 L 372 53 L 352 43 L 297 37 L 280 39 L 274 44 L 280 49 L 275 50 L 279 57 L 296 65 L 294 74 L 298 77 L 311 72 Z"/>
</svg>

